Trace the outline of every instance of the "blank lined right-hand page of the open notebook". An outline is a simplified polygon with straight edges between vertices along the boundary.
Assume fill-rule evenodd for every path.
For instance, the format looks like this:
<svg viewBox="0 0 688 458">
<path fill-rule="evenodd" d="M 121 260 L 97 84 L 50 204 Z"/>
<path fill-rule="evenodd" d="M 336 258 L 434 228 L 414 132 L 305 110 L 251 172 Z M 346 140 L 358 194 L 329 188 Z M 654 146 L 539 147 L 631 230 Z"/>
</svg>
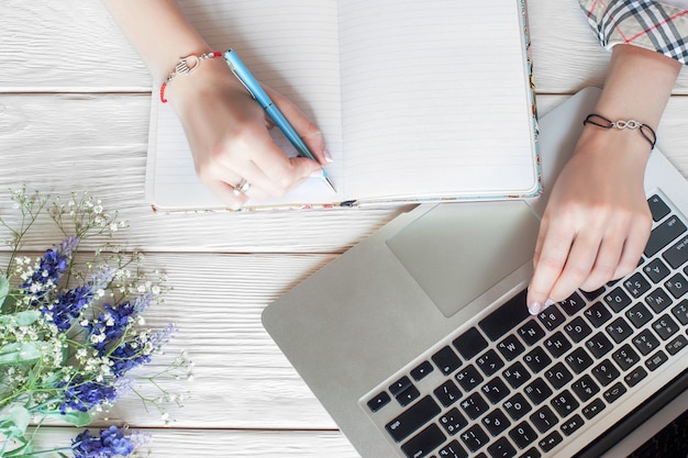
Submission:
<svg viewBox="0 0 688 458">
<path fill-rule="evenodd" d="M 519 15 L 514 0 L 340 3 L 349 192 L 532 191 Z"/>
</svg>

